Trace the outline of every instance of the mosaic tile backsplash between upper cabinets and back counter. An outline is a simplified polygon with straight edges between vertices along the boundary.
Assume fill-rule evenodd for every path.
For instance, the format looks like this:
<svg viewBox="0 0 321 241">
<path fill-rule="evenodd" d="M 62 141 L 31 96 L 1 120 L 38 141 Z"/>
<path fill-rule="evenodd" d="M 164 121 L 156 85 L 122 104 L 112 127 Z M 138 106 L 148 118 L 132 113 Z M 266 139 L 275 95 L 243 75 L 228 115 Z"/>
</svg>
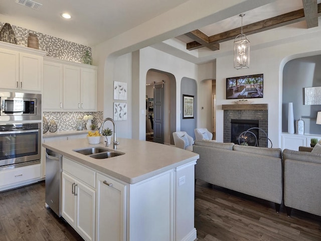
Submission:
<svg viewBox="0 0 321 241">
<path fill-rule="evenodd" d="M 99 125 L 103 121 L 103 112 L 44 112 L 43 115 L 46 117 L 47 121 L 50 123 L 51 121 L 55 121 L 58 126 L 59 131 L 71 131 L 77 130 L 76 124 L 78 118 L 83 119 L 84 115 L 92 114 L 94 116 L 92 120 L 92 124 Z M 83 127 L 85 128 L 85 121 L 83 120 Z"/>
</svg>

